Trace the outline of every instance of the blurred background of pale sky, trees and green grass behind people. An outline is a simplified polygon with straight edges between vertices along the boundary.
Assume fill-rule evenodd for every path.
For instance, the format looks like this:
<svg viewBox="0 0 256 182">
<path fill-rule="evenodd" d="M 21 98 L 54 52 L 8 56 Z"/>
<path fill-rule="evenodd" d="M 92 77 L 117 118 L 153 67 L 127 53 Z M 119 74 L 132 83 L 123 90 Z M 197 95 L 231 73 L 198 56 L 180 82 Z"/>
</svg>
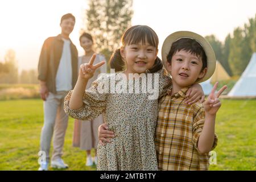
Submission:
<svg viewBox="0 0 256 182">
<path fill-rule="evenodd" d="M 256 1 L 2 0 L 0 1 L 0 170 L 36 170 L 43 101 L 37 65 L 49 36 L 60 34 L 60 18 L 76 17 L 71 40 L 79 50 L 82 32 L 93 35 L 97 52 L 109 60 L 127 27 L 146 24 L 164 39 L 175 31 L 203 35 L 212 45 L 216 72 L 202 84 L 228 85 L 217 115 L 217 164 L 210 170 L 256 169 Z M 72 147 L 70 118 L 63 158 L 68 170 L 85 167 L 84 152 Z"/>
</svg>

